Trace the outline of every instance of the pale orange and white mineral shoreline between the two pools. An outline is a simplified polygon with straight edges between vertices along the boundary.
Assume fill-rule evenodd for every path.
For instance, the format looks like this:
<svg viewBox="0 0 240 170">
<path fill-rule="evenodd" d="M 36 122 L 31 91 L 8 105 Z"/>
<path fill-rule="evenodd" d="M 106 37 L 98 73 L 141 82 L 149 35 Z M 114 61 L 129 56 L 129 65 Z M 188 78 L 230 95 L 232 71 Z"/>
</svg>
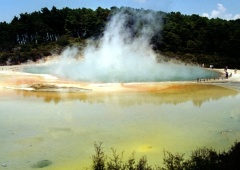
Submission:
<svg viewBox="0 0 240 170">
<path fill-rule="evenodd" d="M 62 80 L 47 74 L 31 74 L 22 72 L 26 65 L 0 66 L 0 88 L 8 86 L 9 89 L 34 90 L 34 91 L 57 91 L 65 92 L 83 91 L 154 91 L 163 90 L 177 84 L 197 83 L 212 84 L 237 90 L 240 92 L 240 71 L 228 69 L 229 78 L 225 78 L 224 69 L 212 69 L 221 73 L 220 78 L 204 79 L 202 81 L 163 81 L 163 82 L 131 82 L 131 83 L 89 83 Z M 209 69 L 209 68 L 206 68 Z M 3 80 L 3 81 L 2 81 Z"/>
</svg>

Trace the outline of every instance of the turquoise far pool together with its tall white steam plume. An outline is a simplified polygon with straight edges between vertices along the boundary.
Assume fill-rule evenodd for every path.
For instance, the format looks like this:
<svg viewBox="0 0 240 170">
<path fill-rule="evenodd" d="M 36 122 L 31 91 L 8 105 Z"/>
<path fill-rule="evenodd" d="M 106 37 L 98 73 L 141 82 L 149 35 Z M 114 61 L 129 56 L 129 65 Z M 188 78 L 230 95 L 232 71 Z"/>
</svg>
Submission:
<svg viewBox="0 0 240 170">
<path fill-rule="evenodd" d="M 193 80 L 216 76 L 205 69 L 156 62 L 150 40 L 159 31 L 161 14 L 128 9 L 117 12 L 107 24 L 99 42 L 89 43 L 83 50 L 83 60 L 77 60 L 76 48 L 67 48 L 60 60 L 43 69 L 59 77 L 90 82 L 155 82 Z"/>
</svg>

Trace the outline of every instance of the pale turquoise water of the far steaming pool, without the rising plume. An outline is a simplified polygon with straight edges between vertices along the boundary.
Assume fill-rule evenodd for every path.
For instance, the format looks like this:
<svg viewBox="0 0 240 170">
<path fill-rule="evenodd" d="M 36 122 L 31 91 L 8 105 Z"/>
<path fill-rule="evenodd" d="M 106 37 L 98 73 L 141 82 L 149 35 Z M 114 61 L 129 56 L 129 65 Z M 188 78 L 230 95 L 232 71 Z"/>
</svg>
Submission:
<svg viewBox="0 0 240 170">
<path fill-rule="evenodd" d="M 50 74 L 60 78 L 84 82 L 163 82 L 189 81 L 198 78 L 215 78 L 220 74 L 216 71 L 198 66 L 164 63 L 152 63 L 143 67 L 134 65 L 90 67 L 83 61 L 70 64 L 49 63 L 44 65 L 29 65 L 23 68 L 24 72 L 34 74 Z"/>
</svg>

